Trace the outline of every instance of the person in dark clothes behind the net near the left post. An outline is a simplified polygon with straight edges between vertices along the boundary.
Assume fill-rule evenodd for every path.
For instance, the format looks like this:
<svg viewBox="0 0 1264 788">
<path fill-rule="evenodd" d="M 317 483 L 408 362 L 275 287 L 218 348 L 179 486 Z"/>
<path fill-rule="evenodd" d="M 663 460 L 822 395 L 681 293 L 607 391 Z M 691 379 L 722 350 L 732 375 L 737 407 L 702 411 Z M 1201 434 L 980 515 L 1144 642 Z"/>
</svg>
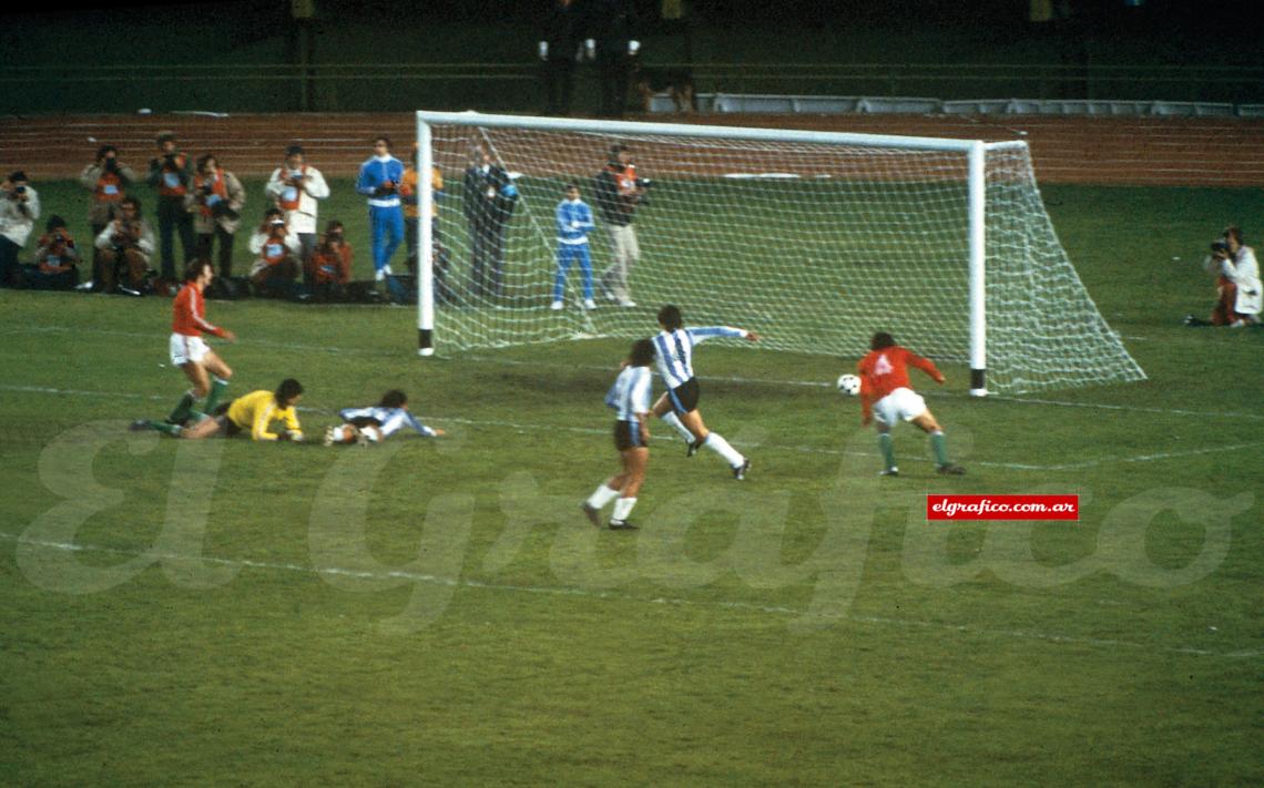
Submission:
<svg viewBox="0 0 1264 788">
<path fill-rule="evenodd" d="M 474 145 L 470 162 L 461 200 L 469 222 L 473 292 L 477 297 L 499 298 L 504 294 L 506 231 L 518 205 L 518 187 L 492 160 L 487 143 Z"/>
</svg>

